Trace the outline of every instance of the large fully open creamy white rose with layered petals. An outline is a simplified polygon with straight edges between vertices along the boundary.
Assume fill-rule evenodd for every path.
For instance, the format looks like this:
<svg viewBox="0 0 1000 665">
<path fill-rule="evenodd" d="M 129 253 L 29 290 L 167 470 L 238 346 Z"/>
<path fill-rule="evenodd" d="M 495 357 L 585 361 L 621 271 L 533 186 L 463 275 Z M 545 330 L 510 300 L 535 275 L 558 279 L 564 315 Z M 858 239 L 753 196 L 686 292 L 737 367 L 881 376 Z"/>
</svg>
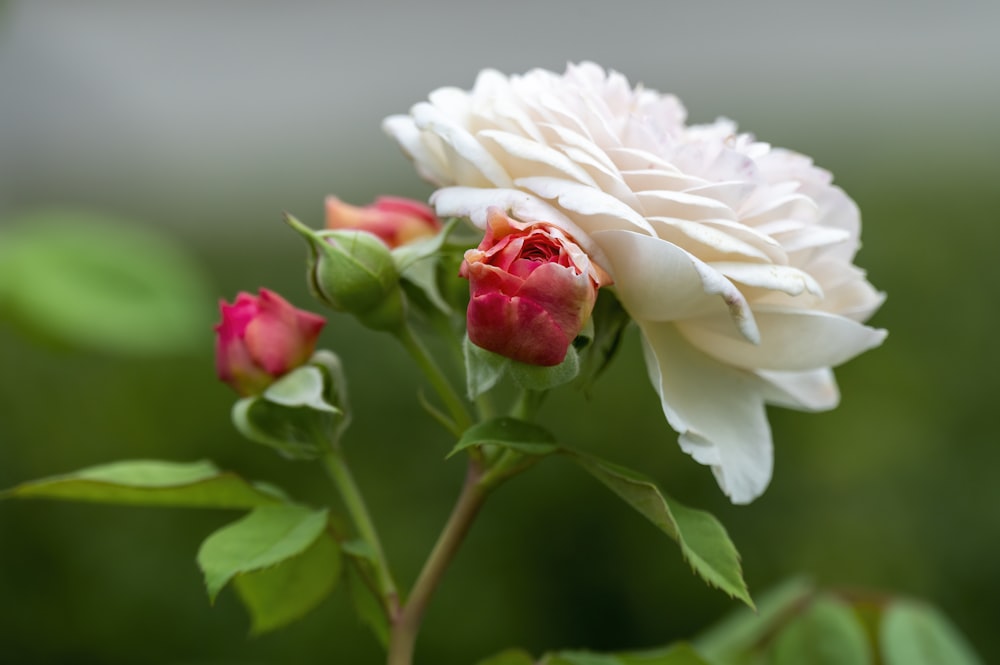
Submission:
<svg viewBox="0 0 1000 665">
<path fill-rule="evenodd" d="M 384 123 L 442 216 L 565 228 L 614 278 L 681 448 L 734 503 L 771 478 L 765 404 L 836 406 L 830 368 L 878 346 L 854 202 L 808 158 L 688 126 L 673 96 L 593 63 L 486 70 Z"/>
</svg>

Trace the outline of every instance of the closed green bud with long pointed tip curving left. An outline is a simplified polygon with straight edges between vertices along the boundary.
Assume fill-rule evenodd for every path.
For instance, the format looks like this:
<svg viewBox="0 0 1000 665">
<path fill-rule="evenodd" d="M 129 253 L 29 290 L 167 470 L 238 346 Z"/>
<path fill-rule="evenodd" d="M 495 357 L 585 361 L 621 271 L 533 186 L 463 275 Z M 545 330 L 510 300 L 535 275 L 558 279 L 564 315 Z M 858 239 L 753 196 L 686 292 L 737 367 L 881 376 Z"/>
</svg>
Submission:
<svg viewBox="0 0 1000 665">
<path fill-rule="evenodd" d="M 369 328 L 391 331 L 403 324 L 399 270 L 381 240 L 364 231 L 317 233 L 286 219 L 309 243 L 309 284 L 320 300 Z"/>
</svg>

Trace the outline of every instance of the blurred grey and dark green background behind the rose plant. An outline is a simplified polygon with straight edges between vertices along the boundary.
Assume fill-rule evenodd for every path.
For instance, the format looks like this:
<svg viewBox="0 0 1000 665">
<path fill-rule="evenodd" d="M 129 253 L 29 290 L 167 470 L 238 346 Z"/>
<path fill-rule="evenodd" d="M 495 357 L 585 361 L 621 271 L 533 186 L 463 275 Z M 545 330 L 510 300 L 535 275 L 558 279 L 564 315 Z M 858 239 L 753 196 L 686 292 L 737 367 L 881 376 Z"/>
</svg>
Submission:
<svg viewBox="0 0 1000 665">
<path fill-rule="evenodd" d="M 268 286 L 311 307 L 282 210 L 317 225 L 328 193 L 427 196 L 384 116 L 483 67 L 591 59 L 678 94 L 695 121 L 725 115 L 830 169 L 861 206 L 858 261 L 889 294 L 873 323 L 890 336 L 838 370 L 836 411 L 772 411 L 775 477 L 749 507 L 678 450 L 634 331 L 585 408 L 560 394 L 546 424 L 718 515 L 752 590 L 805 573 L 926 598 L 1000 662 L 998 25 L 985 0 L 0 4 L 0 242 L 41 208 L 113 215 L 177 245 L 207 284 L 188 352 L 95 350 L 5 316 L 0 487 L 208 457 L 325 501 L 318 469 L 230 427 L 214 298 Z M 323 343 L 352 382 L 356 475 L 412 580 L 462 464 L 442 461 L 449 442 L 391 340 L 332 316 Z M 379 661 L 343 593 L 253 639 L 230 591 L 209 607 L 194 553 L 233 517 L 0 504 L 0 663 Z M 652 646 L 735 606 L 603 488 L 547 462 L 491 499 L 418 654 Z"/>
</svg>

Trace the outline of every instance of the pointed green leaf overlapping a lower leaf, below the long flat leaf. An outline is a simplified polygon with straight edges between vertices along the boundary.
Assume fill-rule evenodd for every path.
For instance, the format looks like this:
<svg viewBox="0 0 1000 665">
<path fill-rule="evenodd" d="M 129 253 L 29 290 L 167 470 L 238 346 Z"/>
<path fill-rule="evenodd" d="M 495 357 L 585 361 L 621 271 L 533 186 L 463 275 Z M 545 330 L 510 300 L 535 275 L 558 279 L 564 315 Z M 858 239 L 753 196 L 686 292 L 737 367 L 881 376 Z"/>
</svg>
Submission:
<svg viewBox="0 0 1000 665">
<path fill-rule="evenodd" d="M 302 554 L 323 533 L 327 511 L 303 506 L 255 508 L 201 544 L 198 566 L 212 602 L 236 575 L 261 570 Z"/>
</svg>

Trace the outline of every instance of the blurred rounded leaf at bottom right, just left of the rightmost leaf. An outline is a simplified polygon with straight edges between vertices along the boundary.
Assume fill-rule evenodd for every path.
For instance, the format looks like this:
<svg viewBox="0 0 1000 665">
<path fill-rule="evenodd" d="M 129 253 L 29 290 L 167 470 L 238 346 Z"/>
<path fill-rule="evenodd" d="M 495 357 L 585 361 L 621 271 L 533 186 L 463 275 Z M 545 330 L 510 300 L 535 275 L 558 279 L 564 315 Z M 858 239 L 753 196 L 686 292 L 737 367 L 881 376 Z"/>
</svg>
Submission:
<svg viewBox="0 0 1000 665">
<path fill-rule="evenodd" d="M 778 635 L 771 665 L 871 665 L 864 626 L 846 603 L 821 596 Z M 950 661 L 934 661 L 944 663 Z M 906 665 L 914 665 L 907 661 Z"/>
</svg>

